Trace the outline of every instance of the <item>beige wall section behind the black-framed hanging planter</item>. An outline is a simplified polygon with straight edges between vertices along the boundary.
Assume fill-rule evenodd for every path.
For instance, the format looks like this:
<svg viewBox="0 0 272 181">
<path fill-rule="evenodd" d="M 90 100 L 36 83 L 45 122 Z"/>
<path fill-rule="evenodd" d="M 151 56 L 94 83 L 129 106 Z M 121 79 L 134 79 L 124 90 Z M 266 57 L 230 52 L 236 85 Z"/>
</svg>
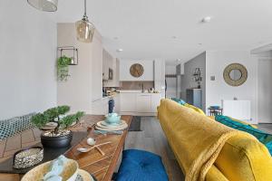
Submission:
<svg viewBox="0 0 272 181">
<path fill-rule="evenodd" d="M 78 48 L 78 65 L 69 66 L 68 81 L 58 81 L 57 103 L 71 106 L 71 111 L 92 112 L 92 101 L 102 98 L 102 41 L 98 32 L 92 43 L 76 40 L 75 26 L 58 24 L 58 46 Z"/>
</svg>

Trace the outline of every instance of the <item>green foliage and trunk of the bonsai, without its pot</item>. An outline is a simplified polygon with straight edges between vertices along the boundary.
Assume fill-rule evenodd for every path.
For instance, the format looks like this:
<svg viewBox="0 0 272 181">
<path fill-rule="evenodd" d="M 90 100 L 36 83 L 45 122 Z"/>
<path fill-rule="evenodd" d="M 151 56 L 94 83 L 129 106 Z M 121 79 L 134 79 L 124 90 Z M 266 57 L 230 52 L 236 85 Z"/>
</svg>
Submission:
<svg viewBox="0 0 272 181">
<path fill-rule="evenodd" d="M 69 106 L 58 106 L 45 110 L 44 113 L 38 113 L 32 117 L 32 123 L 42 129 L 48 122 L 55 122 L 58 126 L 54 129 L 57 133 L 59 129 L 68 129 L 74 121 L 79 121 L 84 115 L 84 112 L 78 111 L 75 114 L 64 116 L 70 110 Z"/>
</svg>

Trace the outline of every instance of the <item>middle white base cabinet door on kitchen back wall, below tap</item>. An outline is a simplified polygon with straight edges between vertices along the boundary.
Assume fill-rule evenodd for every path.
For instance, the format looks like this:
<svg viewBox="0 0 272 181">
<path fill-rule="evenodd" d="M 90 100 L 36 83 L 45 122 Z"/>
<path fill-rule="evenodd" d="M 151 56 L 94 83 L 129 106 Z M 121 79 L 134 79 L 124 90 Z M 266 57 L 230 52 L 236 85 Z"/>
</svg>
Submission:
<svg viewBox="0 0 272 181">
<path fill-rule="evenodd" d="M 151 93 L 137 94 L 136 111 L 137 112 L 152 112 L 151 111 Z"/>
</svg>

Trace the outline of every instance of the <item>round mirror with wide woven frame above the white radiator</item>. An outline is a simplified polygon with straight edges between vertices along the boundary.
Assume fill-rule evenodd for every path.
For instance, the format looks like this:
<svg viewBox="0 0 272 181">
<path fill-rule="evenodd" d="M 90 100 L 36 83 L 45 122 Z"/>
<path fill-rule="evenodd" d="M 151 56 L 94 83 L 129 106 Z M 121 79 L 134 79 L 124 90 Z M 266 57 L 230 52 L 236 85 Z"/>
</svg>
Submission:
<svg viewBox="0 0 272 181">
<path fill-rule="evenodd" d="M 223 76 L 228 85 L 240 86 L 247 81 L 248 71 L 242 64 L 231 63 L 225 68 Z"/>
</svg>

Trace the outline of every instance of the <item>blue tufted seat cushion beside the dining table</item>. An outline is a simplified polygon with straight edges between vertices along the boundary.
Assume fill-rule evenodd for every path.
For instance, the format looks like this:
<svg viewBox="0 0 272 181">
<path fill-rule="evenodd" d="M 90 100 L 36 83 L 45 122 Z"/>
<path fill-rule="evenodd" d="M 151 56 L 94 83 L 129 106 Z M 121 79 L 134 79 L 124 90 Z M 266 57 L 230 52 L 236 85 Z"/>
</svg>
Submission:
<svg viewBox="0 0 272 181">
<path fill-rule="evenodd" d="M 168 176 L 160 156 L 138 149 L 122 152 L 117 181 L 167 181 Z"/>
</svg>

